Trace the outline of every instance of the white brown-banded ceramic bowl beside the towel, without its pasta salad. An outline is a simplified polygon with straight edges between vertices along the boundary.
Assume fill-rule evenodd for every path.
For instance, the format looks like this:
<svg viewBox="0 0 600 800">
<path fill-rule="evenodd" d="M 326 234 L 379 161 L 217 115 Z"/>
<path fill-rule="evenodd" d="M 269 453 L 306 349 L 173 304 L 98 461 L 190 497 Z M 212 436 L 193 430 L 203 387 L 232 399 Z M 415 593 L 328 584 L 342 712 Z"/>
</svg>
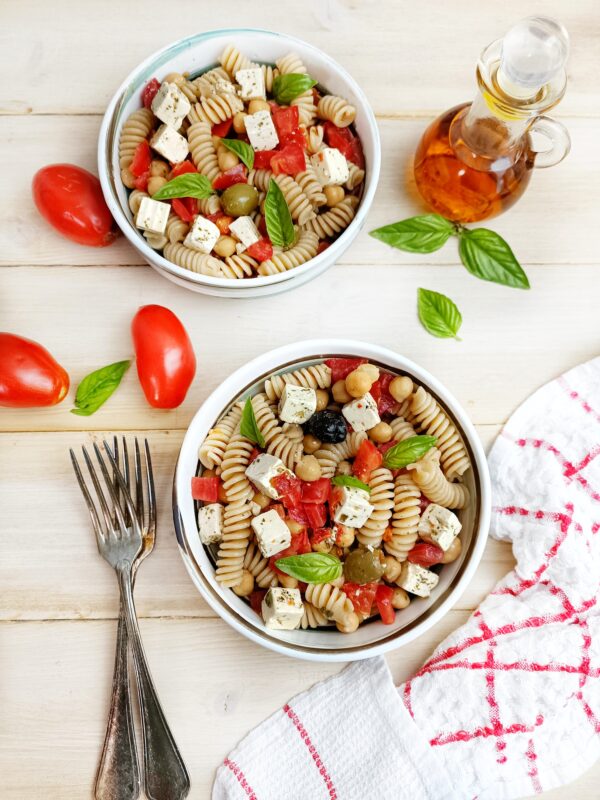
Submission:
<svg viewBox="0 0 600 800">
<path fill-rule="evenodd" d="M 198 448 L 209 429 L 240 397 L 262 390 L 262 381 L 273 372 L 287 371 L 332 356 L 368 358 L 391 372 L 401 372 L 422 384 L 456 424 L 471 457 L 466 473 L 470 505 L 459 512 L 463 524 L 460 558 L 440 572 L 440 582 L 431 597 L 414 598 L 396 614 L 393 625 L 372 620 L 353 634 L 337 630 L 272 631 L 250 606 L 231 589 L 215 580 L 214 567 L 200 542 L 190 486 L 198 472 Z M 442 384 L 404 356 L 376 345 L 348 339 L 323 339 L 271 350 L 238 369 L 206 400 L 185 435 L 175 470 L 173 515 L 181 555 L 193 582 L 207 603 L 233 628 L 253 642 L 278 653 L 312 661 L 353 661 L 408 644 L 431 628 L 452 607 L 477 569 L 485 547 L 490 520 L 490 480 L 479 437 L 465 411 Z"/>
</svg>

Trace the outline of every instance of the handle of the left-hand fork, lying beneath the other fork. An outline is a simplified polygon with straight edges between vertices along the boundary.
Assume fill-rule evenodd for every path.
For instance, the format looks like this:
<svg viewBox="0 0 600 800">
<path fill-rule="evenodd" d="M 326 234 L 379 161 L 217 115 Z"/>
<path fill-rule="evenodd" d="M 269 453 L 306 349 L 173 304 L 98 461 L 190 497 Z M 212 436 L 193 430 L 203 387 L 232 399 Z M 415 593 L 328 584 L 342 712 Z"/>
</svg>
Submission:
<svg viewBox="0 0 600 800">
<path fill-rule="evenodd" d="M 127 670 L 127 627 L 121 602 L 110 711 L 94 796 L 96 800 L 137 800 L 139 794 L 140 770 Z"/>
</svg>

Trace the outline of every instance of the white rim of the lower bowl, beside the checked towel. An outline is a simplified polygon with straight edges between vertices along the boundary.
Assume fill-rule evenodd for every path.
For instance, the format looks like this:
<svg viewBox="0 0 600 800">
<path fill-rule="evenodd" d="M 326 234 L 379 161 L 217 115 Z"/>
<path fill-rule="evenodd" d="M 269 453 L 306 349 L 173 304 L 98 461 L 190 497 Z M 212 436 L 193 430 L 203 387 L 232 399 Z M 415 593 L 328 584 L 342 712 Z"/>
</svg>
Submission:
<svg viewBox="0 0 600 800">
<path fill-rule="evenodd" d="M 315 648 L 310 645 L 294 644 L 272 637 L 267 628 L 254 625 L 239 615 L 229 604 L 226 599 L 227 596 L 222 597 L 211 585 L 204 574 L 202 565 L 196 560 L 188 546 L 185 525 L 179 510 L 179 491 L 185 492 L 185 486 L 181 483 L 184 476 L 180 474 L 181 452 L 188 442 L 190 430 L 195 427 L 196 420 L 203 413 L 204 405 L 210 400 L 218 401 L 221 407 L 220 415 L 231 405 L 233 398 L 243 393 L 266 374 L 285 369 L 289 364 L 303 359 L 321 358 L 323 354 L 327 354 L 326 357 L 328 357 L 330 354 L 345 354 L 347 356 L 351 353 L 376 359 L 390 369 L 410 372 L 418 380 L 422 381 L 428 391 L 432 391 L 434 395 L 442 400 L 445 409 L 450 412 L 450 416 L 457 425 L 458 431 L 473 458 L 473 473 L 477 495 L 475 522 L 467 557 L 460 565 L 454 581 L 442 596 L 437 598 L 431 606 L 425 609 L 422 615 L 407 627 L 391 632 L 388 636 L 373 643 L 354 646 L 348 644 L 348 646 L 340 648 Z M 270 364 L 275 365 L 270 366 Z M 192 443 L 191 446 L 197 447 L 197 442 Z M 179 551 L 192 582 L 200 591 L 204 600 L 225 622 L 256 644 L 267 647 L 276 653 L 309 661 L 357 661 L 371 658 L 409 644 L 433 627 L 450 611 L 477 570 L 489 534 L 490 516 L 491 484 L 487 459 L 473 423 L 454 395 L 437 378 L 411 359 L 389 348 L 351 339 L 311 339 L 294 342 L 293 344 L 269 350 L 235 370 L 209 395 L 192 418 L 181 444 L 173 478 L 173 520 Z M 340 634 L 340 636 L 343 635 Z"/>
</svg>

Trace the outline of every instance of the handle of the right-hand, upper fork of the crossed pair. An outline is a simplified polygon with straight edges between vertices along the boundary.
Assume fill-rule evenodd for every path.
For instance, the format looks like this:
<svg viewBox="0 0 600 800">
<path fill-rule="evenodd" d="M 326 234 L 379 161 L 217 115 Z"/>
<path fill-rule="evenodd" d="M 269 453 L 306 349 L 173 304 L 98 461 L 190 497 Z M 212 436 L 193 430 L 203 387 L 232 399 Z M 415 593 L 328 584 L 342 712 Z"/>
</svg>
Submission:
<svg viewBox="0 0 600 800">
<path fill-rule="evenodd" d="M 165 719 L 146 662 L 133 602 L 131 564 L 125 562 L 119 565 L 117 574 L 139 692 L 144 747 L 144 790 L 149 800 L 183 800 L 190 791 L 190 779 Z"/>
</svg>

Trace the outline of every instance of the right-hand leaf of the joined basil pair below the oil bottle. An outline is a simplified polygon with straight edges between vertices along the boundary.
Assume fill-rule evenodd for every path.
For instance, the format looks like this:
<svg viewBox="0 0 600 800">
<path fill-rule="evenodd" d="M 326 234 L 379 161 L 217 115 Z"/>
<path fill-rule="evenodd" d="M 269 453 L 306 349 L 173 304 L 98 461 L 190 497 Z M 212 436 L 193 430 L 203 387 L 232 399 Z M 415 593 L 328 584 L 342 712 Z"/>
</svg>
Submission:
<svg viewBox="0 0 600 800">
<path fill-rule="evenodd" d="M 462 228 L 460 259 L 472 275 L 514 289 L 529 289 L 529 279 L 508 243 L 489 228 Z"/>
</svg>

